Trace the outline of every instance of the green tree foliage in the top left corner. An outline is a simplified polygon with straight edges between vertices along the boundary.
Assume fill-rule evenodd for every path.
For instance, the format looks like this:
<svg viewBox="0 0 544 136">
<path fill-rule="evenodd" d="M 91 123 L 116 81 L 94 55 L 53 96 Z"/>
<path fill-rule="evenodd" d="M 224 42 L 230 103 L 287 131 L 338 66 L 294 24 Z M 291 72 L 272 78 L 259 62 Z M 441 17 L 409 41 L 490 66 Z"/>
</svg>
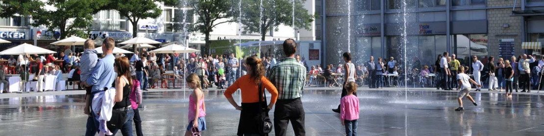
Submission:
<svg viewBox="0 0 544 136">
<path fill-rule="evenodd" d="M 2 0 L 0 1 L 0 17 L 32 16 L 44 7 L 40 0 Z"/>
</svg>

